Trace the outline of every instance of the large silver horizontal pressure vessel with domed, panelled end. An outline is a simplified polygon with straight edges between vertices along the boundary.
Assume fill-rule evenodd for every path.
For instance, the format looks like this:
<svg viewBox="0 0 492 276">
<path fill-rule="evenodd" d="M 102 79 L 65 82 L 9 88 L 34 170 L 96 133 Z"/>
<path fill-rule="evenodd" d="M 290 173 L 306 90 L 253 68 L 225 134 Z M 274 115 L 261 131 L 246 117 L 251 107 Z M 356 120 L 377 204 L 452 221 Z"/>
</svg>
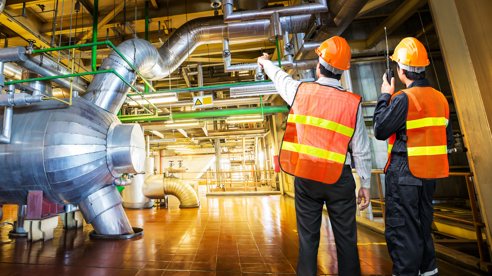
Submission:
<svg viewBox="0 0 492 276">
<path fill-rule="evenodd" d="M 28 191 L 43 191 L 50 203 L 78 204 L 122 173 L 143 170 L 139 125 L 121 124 L 83 98 L 72 106 L 45 100 L 13 113 L 10 144 L 0 144 L 0 204 L 25 205 Z"/>
</svg>

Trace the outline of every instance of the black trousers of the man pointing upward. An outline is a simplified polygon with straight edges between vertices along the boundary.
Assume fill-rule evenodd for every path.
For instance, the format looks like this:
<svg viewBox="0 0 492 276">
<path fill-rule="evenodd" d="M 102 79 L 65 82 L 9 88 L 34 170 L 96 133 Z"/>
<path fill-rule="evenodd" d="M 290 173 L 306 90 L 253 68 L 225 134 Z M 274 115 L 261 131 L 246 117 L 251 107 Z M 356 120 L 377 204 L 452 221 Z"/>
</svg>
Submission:
<svg viewBox="0 0 492 276">
<path fill-rule="evenodd" d="M 334 184 L 324 184 L 296 177 L 294 186 L 297 233 L 299 234 L 297 275 L 316 275 L 321 214 L 326 201 L 337 244 L 338 275 L 360 276 L 361 267 L 355 223 L 355 180 L 350 166 L 343 167 L 340 179 Z"/>
</svg>

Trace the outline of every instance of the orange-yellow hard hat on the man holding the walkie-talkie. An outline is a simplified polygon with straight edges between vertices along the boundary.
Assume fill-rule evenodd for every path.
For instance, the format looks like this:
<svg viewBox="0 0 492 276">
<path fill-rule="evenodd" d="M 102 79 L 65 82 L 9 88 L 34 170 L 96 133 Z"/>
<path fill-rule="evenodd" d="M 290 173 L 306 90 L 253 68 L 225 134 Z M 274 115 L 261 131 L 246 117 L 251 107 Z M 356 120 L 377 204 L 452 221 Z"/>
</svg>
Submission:
<svg viewBox="0 0 492 276">
<path fill-rule="evenodd" d="M 398 63 L 413 67 L 425 67 L 429 65 L 426 48 L 420 41 L 413 37 L 403 38 L 390 58 Z"/>
</svg>

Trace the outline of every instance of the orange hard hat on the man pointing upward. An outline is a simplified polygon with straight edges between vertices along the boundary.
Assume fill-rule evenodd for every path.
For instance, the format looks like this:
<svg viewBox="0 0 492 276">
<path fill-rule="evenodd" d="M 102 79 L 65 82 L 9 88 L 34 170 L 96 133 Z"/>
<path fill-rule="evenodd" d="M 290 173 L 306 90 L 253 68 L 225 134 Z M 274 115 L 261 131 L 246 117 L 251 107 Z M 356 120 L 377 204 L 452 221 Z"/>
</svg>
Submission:
<svg viewBox="0 0 492 276">
<path fill-rule="evenodd" d="M 350 53 L 350 46 L 348 46 L 345 39 L 334 36 L 325 40 L 318 48 L 314 49 L 314 51 L 324 62 L 326 62 L 326 64 L 323 64 L 324 62 L 320 60 L 321 64 L 334 74 L 341 74 L 340 70 L 350 69 L 350 59 L 352 58 L 352 54 Z M 339 70 L 333 70 L 334 68 Z"/>
</svg>

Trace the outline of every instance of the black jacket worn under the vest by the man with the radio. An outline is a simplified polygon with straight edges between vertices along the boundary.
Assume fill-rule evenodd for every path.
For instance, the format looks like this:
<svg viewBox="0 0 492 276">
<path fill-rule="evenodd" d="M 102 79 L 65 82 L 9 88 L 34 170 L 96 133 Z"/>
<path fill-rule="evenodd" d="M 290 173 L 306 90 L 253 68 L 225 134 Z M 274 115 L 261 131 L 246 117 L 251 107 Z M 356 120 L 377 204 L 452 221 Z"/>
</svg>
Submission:
<svg viewBox="0 0 492 276">
<path fill-rule="evenodd" d="M 411 87 L 429 87 L 431 83 L 428 79 L 414 81 L 406 88 Z M 390 104 L 391 100 L 391 104 Z M 408 113 L 408 97 L 405 93 L 396 95 L 391 99 L 388 93 L 382 93 L 377 99 L 374 115 L 372 116 L 372 127 L 374 137 L 378 140 L 386 140 L 394 133 L 406 135 L 406 116 Z M 449 119 L 449 118 L 448 118 Z M 448 122 L 446 127 L 447 148 L 453 148 L 453 127 Z M 407 156 L 406 141 L 396 139 L 393 145 L 392 154 Z M 449 156 L 449 153 L 448 153 Z M 400 160 L 400 159 L 398 159 Z M 408 164 L 406 164 L 408 166 Z"/>
</svg>

